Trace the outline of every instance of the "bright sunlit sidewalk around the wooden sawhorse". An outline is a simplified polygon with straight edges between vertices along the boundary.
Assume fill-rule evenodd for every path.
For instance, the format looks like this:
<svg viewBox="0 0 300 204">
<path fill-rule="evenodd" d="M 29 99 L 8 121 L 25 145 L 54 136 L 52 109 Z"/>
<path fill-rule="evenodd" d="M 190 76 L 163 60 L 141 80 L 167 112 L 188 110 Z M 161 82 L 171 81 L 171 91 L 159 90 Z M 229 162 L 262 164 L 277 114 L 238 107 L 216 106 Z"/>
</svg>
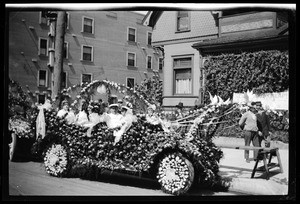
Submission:
<svg viewBox="0 0 300 204">
<path fill-rule="evenodd" d="M 218 145 L 244 145 L 243 138 L 218 137 L 214 139 Z M 264 145 L 264 144 L 263 144 Z M 269 180 L 265 179 L 265 173 L 257 171 L 254 178 L 251 179 L 251 173 L 254 167 L 254 160 L 246 163 L 244 159 L 244 150 L 222 148 L 224 157 L 220 161 L 220 175 L 227 178 L 230 182 L 229 191 L 246 193 L 251 195 L 287 195 L 288 194 L 288 167 L 289 167 L 289 149 L 288 144 L 273 142 L 271 147 L 278 147 L 283 166 L 283 173 L 279 168 L 270 169 Z M 253 153 L 250 151 L 250 158 Z M 277 157 L 272 158 L 272 163 L 277 163 Z M 258 167 L 263 165 L 260 161 Z"/>
</svg>

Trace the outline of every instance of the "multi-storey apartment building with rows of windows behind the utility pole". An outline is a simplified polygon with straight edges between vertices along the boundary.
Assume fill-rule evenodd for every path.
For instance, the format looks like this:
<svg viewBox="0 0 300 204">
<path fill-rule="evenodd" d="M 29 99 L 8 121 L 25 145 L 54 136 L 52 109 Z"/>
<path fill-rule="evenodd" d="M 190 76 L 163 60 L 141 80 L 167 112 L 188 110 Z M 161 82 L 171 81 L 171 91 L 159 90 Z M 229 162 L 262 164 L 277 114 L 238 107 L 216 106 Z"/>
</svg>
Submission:
<svg viewBox="0 0 300 204">
<path fill-rule="evenodd" d="M 9 12 L 9 77 L 28 86 L 38 102 L 51 95 L 55 29 L 44 11 Z M 107 79 L 128 87 L 153 71 L 162 56 L 144 15 L 131 11 L 67 11 L 63 88 Z"/>
</svg>

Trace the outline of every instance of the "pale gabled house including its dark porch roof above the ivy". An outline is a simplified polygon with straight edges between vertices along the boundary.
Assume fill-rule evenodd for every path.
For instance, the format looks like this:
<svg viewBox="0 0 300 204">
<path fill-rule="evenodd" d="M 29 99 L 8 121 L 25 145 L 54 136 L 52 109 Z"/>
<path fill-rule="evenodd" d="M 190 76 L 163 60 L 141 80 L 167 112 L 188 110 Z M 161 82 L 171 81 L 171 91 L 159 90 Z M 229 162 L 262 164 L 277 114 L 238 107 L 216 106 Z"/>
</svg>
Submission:
<svg viewBox="0 0 300 204">
<path fill-rule="evenodd" d="M 208 55 L 288 49 L 285 12 L 158 11 L 143 22 L 154 28 L 153 46 L 164 49 L 164 106 L 203 103 Z"/>
</svg>

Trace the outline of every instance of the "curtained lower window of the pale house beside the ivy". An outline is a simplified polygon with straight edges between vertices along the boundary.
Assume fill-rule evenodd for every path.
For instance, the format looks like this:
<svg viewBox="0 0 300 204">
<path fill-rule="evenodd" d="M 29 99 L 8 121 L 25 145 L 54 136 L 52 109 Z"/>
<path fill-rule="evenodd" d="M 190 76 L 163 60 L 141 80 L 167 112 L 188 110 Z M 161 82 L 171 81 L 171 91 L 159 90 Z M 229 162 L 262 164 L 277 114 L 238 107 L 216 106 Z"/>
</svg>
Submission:
<svg viewBox="0 0 300 204">
<path fill-rule="evenodd" d="M 192 58 L 174 59 L 174 90 L 175 94 L 192 93 Z"/>
</svg>

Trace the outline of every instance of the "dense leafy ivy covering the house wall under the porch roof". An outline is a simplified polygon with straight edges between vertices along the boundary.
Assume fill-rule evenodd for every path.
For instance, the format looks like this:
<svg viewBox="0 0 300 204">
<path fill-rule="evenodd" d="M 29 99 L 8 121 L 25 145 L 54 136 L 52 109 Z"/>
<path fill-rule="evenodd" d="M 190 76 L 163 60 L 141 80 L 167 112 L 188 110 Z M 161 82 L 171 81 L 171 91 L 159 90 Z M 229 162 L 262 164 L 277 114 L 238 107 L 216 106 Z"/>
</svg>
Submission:
<svg viewBox="0 0 300 204">
<path fill-rule="evenodd" d="M 207 91 L 228 99 L 234 92 L 253 90 L 260 94 L 289 88 L 288 51 L 262 50 L 208 56 L 204 70 L 205 103 L 209 102 Z"/>
</svg>

